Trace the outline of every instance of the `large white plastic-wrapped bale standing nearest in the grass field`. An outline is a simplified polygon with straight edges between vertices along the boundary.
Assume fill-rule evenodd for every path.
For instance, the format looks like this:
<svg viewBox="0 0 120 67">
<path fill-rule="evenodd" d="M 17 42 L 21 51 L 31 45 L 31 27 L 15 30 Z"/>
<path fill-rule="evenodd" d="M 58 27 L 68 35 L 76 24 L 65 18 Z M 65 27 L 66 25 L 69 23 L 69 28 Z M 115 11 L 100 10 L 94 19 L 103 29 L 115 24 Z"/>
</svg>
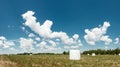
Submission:
<svg viewBox="0 0 120 67">
<path fill-rule="evenodd" d="M 70 60 L 80 60 L 80 50 L 70 50 L 69 59 Z"/>
</svg>

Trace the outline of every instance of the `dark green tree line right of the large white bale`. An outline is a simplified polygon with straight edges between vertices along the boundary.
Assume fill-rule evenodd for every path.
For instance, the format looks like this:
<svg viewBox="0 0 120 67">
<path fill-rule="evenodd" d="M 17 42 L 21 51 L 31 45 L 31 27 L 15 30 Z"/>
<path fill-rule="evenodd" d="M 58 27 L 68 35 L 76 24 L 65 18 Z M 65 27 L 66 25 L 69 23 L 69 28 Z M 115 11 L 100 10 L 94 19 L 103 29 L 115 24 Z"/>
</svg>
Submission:
<svg viewBox="0 0 120 67">
<path fill-rule="evenodd" d="M 120 48 L 116 49 L 109 49 L 109 50 L 102 50 L 102 49 L 97 49 L 97 50 L 89 50 L 89 51 L 84 51 L 83 54 L 92 54 L 95 53 L 96 55 L 118 55 L 120 53 Z"/>
</svg>

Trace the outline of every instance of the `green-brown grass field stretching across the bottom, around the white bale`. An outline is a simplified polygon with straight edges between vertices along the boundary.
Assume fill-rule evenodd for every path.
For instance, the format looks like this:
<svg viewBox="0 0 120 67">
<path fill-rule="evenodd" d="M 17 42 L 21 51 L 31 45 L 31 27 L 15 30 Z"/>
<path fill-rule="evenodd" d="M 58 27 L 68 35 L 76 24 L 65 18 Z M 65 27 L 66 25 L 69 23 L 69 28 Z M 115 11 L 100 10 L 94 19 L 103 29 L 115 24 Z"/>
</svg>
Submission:
<svg viewBox="0 0 120 67">
<path fill-rule="evenodd" d="M 0 67 L 120 67 L 117 55 L 82 55 L 81 60 L 69 60 L 68 55 L 2 55 Z"/>
</svg>

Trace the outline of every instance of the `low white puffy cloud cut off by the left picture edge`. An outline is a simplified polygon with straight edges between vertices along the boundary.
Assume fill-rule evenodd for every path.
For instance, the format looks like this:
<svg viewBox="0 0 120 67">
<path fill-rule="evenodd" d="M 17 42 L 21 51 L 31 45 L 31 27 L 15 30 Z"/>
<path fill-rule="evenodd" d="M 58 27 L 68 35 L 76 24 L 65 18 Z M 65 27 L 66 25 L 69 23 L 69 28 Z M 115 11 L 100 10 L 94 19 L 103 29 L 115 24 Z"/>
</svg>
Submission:
<svg viewBox="0 0 120 67">
<path fill-rule="evenodd" d="M 13 41 L 9 41 L 7 40 L 4 36 L 0 36 L 0 46 L 3 48 L 9 48 L 11 46 L 14 46 L 14 42 Z"/>
</svg>

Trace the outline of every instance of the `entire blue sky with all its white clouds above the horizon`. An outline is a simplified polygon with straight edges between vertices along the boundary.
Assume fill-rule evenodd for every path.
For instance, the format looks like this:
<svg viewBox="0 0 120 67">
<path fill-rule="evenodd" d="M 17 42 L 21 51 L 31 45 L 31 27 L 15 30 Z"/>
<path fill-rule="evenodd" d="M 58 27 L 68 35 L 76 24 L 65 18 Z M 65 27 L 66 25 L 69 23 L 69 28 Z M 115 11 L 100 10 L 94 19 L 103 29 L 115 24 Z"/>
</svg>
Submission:
<svg viewBox="0 0 120 67">
<path fill-rule="evenodd" d="M 0 54 L 115 49 L 119 0 L 0 0 Z"/>
</svg>

